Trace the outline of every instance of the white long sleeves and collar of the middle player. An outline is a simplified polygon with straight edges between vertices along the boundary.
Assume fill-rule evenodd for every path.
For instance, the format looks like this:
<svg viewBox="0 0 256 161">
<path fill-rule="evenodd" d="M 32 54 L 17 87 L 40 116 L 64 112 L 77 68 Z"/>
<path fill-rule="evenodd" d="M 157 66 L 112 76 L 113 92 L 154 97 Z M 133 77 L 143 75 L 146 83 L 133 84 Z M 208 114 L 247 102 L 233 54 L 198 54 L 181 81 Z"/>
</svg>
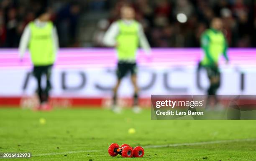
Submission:
<svg viewBox="0 0 256 161">
<path fill-rule="evenodd" d="M 133 23 L 133 20 L 122 20 L 122 21 L 127 25 L 130 25 L 131 23 Z M 114 22 L 110 25 L 109 29 L 107 30 L 107 32 L 103 37 L 103 44 L 108 47 L 114 47 L 116 45 L 116 37 L 118 36 L 118 33 L 119 33 L 118 22 Z M 149 55 L 151 53 L 151 48 L 144 34 L 143 27 L 141 24 L 139 24 L 138 38 L 139 38 L 140 46 L 143 48 L 145 53 Z"/>
</svg>

